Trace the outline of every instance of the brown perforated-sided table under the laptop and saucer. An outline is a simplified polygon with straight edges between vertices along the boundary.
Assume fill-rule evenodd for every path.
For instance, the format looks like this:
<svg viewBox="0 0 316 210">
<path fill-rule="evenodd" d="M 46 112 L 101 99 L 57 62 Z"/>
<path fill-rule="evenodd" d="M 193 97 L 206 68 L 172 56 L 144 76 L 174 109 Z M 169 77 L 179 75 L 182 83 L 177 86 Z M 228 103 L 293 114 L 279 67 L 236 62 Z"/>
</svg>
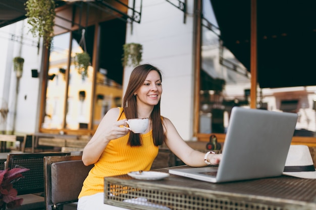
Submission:
<svg viewBox="0 0 316 210">
<path fill-rule="evenodd" d="M 178 166 L 172 168 L 184 168 Z M 155 171 L 167 172 L 170 168 Z M 138 198 L 136 203 L 123 202 Z M 316 179 L 290 176 L 230 183 L 209 183 L 170 174 L 155 181 L 128 175 L 104 177 L 104 203 L 129 209 L 296 210 L 316 209 Z M 166 208 L 166 209 L 168 209 Z"/>
</svg>

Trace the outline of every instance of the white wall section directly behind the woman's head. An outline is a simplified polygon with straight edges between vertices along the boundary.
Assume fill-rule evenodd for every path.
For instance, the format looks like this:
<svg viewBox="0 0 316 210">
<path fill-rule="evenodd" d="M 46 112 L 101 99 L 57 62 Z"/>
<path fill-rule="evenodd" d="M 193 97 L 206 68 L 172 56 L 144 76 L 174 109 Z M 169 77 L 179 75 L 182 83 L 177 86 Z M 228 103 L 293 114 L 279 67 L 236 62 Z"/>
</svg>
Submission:
<svg viewBox="0 0 316 210">
<path fill-rule="evenodd" d="M 132 34 L 128 24 L 126 32 L 126 43 L 143 45 L 141 63 L 155 65 L 163 72 L 162 115 L 174 123 L 185 140 L 192 139 L 193 133 L 193 3 L 187 2 L 189 15 L 183 23 L 184 13 L 167 1 L 144 0 L 141 23 L 133 23 Z M 123 88 L 131 71 L 131 67 L 125 68 Z"/>
</svg>

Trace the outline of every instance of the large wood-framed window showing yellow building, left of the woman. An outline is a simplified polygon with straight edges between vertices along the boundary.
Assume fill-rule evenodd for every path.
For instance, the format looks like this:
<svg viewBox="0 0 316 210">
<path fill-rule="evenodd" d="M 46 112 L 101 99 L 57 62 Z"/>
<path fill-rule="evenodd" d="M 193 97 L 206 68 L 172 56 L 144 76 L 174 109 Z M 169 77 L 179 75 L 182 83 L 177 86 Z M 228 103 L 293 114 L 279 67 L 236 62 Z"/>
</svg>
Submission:
<svg viewBox="0 0 316 210">
<path fill-rule="evenodd" d="M 52 40 L 42 132 L 93 133 L 108 110 L 121 105 L 126 22 L 100 23 L 98 41 L 94 40 L 95 27 L 85 29 L 84 41 L 82 30 L 56 35 Z M 96 42 L 99 49 L 94 49 Z M 75 62 L 76 54 L 83 52 L 90 56 L 86 74 Z"/>
</svg>

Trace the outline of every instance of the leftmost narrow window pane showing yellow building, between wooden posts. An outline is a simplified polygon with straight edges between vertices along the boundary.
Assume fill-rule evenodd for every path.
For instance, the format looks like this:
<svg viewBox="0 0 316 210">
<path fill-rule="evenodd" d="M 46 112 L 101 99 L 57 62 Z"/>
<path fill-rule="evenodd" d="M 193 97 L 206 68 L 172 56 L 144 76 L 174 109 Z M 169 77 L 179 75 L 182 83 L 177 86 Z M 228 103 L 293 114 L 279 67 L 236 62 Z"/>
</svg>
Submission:
<svg viewBox="0 0 316 210">
<path fill-rule="evenodd" d="M 55 36 L 49 56 L 45 116 L 42 128 L 62 129 L 66 94 L 65 73 L 70 33 Z"/>
</svg>

